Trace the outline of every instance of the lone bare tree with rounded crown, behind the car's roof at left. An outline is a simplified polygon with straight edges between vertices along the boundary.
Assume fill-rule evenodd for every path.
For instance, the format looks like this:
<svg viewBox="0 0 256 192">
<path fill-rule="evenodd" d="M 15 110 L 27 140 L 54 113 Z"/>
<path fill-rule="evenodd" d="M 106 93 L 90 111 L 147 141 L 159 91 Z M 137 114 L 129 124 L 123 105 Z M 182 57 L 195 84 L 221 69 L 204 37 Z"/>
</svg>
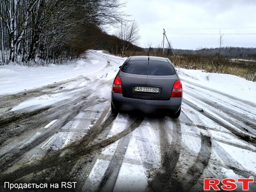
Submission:
<svg viewBox="0 0 256 192">
<path fill-rule="evenodd" d="M 121 40 L 121 55 L 124 54 L 131 44 L 136 45 L 140 40 L 139 26 L 135 20 L 124 20 L 118 26 L 114 35 Z"/>
</svg>

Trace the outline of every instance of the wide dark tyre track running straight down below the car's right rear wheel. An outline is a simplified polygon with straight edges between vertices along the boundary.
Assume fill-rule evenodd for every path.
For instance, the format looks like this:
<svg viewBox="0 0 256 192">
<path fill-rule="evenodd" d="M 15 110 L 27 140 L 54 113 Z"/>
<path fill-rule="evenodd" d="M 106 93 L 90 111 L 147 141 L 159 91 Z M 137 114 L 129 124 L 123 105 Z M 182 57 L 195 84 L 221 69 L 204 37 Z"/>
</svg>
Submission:
<svg viewBox="0 0 256 192">
<path fill-rule="evenodd" d="M 173 119 L 172 142 L 169 144 L 169 128 L 166 122 L 158 120 L 160 129 L 160 149 L 162 167 L 156 176 L 149 182 L 147 191 L 179 191 L 180 182 L 176 180 L 175 167 L 180 156 L 181 147 L 181 126 L 178 119 Z"/>
</svg>

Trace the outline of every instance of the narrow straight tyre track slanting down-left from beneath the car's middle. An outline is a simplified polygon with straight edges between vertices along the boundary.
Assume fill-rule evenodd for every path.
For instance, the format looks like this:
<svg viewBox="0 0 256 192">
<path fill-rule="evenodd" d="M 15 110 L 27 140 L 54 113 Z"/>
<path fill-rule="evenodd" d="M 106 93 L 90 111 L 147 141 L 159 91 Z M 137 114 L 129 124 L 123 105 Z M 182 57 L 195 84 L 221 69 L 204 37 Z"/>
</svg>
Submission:
<svg viewBox="0 0 256 192">
<path fill-rule="evenodd" d="M 141 118 L 131 118 L 130 122 L 128 122 L 128 127 L 132 127 L 132 131 L 140 126 L 143 121 L 143 116 Z M 113 191 L 114 186 L 116 184 L 116 179 L 118 177 L 118 173 L 122 166 L 122 162 L 124 160 L 124 156 L 126 154 L 126 150 L 130 139 L 132 137 L 132 131 L 128 133 L 126 136 L 120 138 L 117 148 L 110 160 L 108 168 L 105 171 L 105 174 L 100 182 L 99 188 L 97 191 Z"/>
</svg>

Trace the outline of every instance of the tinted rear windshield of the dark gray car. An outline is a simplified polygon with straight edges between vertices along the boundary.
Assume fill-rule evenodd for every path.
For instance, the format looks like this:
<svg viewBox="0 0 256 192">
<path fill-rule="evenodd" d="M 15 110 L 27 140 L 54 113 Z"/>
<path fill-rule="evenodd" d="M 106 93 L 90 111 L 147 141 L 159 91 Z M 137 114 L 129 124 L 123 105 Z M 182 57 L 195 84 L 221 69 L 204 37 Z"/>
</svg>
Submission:
<svg viewBox="0 0 256 192">
<path fill-rule="evenodd" d="M 175 71 L 171 64 L 152 60 L 128 61 L 121 69 L 124 73 L 139 75 L 174 75 Z"/>
</svg>

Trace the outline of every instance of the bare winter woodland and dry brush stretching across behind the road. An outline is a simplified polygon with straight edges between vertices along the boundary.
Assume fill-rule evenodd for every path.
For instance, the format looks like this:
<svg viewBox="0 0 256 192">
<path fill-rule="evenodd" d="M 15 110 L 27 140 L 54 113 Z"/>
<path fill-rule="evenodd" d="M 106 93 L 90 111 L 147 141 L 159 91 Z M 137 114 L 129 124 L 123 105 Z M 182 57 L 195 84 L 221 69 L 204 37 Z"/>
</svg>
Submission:
<svg viewBox="0 0 256 192">
<path fill-rule="evenodd" d="M 222 47 L 222 36 L 218 48 L 166 47 L 163 52 L 150 42 L 141 48 L 139 26 L 120 11 L 123 6 L 118 0 L 1 0 L 0 65 L 62 64 L 94 49 L 118 56 L 164 56 L 177 67 L 256 81 L 256 48 Z M 106 32 L 110 26 L 113 34 Z"/>
</svg>

